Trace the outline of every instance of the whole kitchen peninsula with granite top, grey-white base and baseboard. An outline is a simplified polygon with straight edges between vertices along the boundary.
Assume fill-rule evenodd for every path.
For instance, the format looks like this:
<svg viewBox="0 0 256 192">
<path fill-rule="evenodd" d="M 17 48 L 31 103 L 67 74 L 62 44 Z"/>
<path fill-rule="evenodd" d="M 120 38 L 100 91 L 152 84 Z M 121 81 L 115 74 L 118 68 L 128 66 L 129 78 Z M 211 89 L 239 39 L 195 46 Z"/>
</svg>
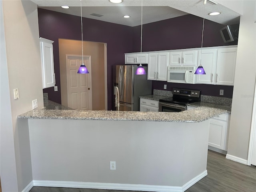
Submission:
<svg viewBox="0 0 256 192">
<path fill-rule="evenodd" d="M 225 112 L 40 109 L 18 121 L 28 123 L 34 186 L 183 192 L 207 175 L 208 119 Z"/>
</svg>

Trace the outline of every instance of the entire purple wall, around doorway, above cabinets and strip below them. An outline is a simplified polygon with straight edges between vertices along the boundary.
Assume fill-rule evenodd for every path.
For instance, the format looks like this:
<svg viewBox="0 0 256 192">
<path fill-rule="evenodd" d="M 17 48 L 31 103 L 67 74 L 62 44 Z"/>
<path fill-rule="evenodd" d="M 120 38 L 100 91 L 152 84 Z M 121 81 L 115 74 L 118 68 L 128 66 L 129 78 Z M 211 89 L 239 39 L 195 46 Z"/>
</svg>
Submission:
<svg viewBox="0 0 256 192">
<path fill-rule="evenodd" d="M 54 41 L 54 69 L 56 85 L 46 88 L 49 100 L 61 103 L 60 68 L 58 39 L 81 40 L 80 17 L 38 8 L 40 37 Z M 184 15 L 168 20 L 143 25 L 142 51 L 173 50 L 201 47 L 203 19 L 194 15 Z M 108 64 L 108 110 L 112 109 L 112 66 L 124 64 L 124 53 L 140 52 L 140 26 L 129 27 L 109 22 L 83 18 L 85 41 L 107 43 Z M 234 45 L 237 42 L 224 43 L 220 36 L 220 28 L 224 25 L 205 20 L 203 47 Z M 203 84 L 172 84 L 153 81 L 152 90 L 168 90 L 173 87 L 200 89 L 202 94 L 219 96 L 219 89 L 224 89 L 224 96 L 232 98 L 233 86 L 215 86 Z"/>
</svg>

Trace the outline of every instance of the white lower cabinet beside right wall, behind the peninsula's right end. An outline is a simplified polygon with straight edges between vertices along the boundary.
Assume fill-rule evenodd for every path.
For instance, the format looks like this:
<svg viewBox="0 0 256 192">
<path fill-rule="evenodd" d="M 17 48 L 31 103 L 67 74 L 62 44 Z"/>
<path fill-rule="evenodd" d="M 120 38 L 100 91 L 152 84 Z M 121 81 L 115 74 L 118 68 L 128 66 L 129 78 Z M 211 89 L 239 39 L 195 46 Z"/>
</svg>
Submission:
<svg viewBox="0 0 256 192">
<path fill-rule="evenodd" d="M 187 106 L 187 110 L 195 107 Z M 224 113 L 210 119 L 209 141 L 208 146 L 228 150 L 228 133 L 229 133 L 230 114 Z"/>
</svg>

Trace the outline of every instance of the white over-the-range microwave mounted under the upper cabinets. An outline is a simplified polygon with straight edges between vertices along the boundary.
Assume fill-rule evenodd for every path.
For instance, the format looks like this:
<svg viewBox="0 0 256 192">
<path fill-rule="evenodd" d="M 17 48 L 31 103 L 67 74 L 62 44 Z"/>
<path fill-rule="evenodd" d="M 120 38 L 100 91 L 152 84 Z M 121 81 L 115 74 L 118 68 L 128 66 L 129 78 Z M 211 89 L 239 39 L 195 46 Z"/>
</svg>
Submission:
<svg viewBox="0 0 256 192">
<path fill-rule="evenodd" d="M 196 67 L 173 67 L 168 66 L 167 68 L 167 82 L 172 83 L 196 83 Z"/>
</svg>

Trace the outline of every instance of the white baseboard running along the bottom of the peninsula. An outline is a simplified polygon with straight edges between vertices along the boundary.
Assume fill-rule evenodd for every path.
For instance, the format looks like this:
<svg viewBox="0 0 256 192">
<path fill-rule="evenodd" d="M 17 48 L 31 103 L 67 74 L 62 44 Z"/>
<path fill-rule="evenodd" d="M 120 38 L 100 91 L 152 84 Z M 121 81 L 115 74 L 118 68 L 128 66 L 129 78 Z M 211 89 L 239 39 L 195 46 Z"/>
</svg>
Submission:
<svg viewBox="0 0 256 192">
<path fill-rule="evenodd" d="M 72 181 L 45 181 L 34 180 L 34 186 L 44 187 L 66 187 L 66 188 L 90 188 L 109 190 L 129 190 L 129 191 L 151 191 L 151 192 L 184 192 L 200 179 L 207 175 L 207 170 L 184 184 L 184 186 L 159 186 L 140 184 L 119 184 L 119 183 L 96 183 L 96 182 L 72 182 Z"/>
</svg>

